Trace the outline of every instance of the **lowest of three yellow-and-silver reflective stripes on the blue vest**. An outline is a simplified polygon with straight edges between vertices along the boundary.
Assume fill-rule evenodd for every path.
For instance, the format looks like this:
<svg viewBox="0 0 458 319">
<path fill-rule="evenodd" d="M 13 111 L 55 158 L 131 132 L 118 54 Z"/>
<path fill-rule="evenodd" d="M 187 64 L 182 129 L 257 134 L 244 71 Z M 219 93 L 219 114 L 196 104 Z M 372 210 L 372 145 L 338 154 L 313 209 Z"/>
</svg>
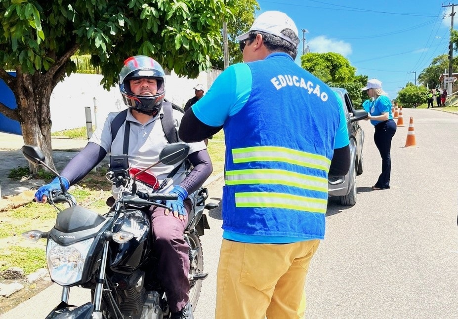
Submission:
<svg viewBox="0 0 458 319">
<path fill-rule="evenodd" d="M 283 193 L 235 193 L 236 207 L 287 208 L 316 213 L 326 213 L 327 199 L 315 199 Z"/>
</svg>

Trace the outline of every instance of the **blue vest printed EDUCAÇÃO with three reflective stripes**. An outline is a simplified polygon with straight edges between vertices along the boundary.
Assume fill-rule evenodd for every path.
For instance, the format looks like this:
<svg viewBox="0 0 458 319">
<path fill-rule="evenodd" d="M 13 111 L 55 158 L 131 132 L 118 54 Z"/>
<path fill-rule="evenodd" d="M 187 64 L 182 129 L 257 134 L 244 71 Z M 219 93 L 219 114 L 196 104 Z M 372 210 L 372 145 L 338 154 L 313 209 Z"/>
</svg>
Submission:
<svg viewBox="0 0 458 319">
<path fill-rule="evenodd" d="M 285 54 L 248 65 L 250 98 L 224 123 L 224 237 L 323 239 L 340 106 L 325 83 Z"/>
</svg>

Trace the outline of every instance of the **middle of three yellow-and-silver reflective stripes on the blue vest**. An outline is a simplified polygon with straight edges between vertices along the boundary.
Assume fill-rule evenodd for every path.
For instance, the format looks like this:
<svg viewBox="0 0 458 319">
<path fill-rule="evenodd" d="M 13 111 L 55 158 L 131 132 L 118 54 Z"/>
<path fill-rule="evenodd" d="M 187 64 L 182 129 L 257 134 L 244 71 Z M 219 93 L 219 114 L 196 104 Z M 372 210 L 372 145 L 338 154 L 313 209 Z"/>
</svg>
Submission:
<svg viewBox="0 0 458 319">
<path fill-rule="evenodd" d="M 279 184 L 328 193 L 326 178 L 283 169 L 258 168 L 226 171 L 226 185 Z"/>
</svg>

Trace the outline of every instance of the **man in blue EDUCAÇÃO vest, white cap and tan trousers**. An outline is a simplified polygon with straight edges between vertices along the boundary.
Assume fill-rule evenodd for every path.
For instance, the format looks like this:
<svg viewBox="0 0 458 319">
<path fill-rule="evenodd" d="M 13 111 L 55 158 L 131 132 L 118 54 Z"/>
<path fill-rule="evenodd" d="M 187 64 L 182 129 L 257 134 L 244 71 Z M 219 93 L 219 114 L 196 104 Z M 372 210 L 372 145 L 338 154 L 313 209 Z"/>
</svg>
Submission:
<svg viewBox="0 0 458 319">
<path fill-rule="evenodd" d="M 294 63 L 290 17 L 264 12 L 237 39 L 246 63 L 227 68 L 179 129 L 192 142 L 224 128 L 215 317 L 302 318 L 305 277 L 325 234 L 328 173 L 349 168 L 347 125 L 333 91 Z"/>
</svg>

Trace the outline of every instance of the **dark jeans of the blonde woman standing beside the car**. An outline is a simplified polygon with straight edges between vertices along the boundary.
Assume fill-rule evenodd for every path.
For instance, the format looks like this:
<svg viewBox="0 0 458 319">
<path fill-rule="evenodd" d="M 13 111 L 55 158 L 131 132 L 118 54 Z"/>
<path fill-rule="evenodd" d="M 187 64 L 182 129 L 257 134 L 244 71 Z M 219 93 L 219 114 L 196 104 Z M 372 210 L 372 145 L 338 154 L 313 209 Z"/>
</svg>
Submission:
<svg viewBox="0 0 458 319">
<path fill-rule="evenodd" d="M 394 133 L 396 133 L 396 123 L 394 120 L 387 120 L 375 125 L 374 142 L 382 159 L 382 172 L 374 185 L 378 188 L 390 188 L 390 150 Z"/>
</svg>

